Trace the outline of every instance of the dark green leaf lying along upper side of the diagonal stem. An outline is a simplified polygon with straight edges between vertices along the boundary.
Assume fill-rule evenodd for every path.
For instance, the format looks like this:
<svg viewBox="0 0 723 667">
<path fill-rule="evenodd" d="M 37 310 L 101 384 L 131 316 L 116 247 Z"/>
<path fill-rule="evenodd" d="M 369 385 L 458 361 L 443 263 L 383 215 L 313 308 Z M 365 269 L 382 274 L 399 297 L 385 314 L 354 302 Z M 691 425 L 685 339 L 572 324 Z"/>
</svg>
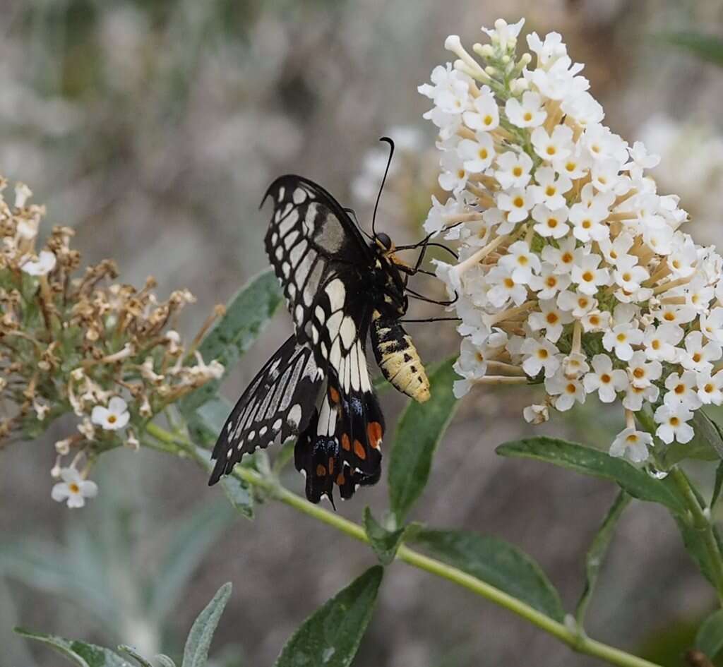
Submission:
<svg viewBox="0 0 723 667">
<path fill-rule="evenodd" d="M 513 595 L 518 600 L 562 621 L 560 595 L 536 562 L 512 544 L 467 530 L 422 528 L 412 543 L 480 581 Z"/>
</svg>

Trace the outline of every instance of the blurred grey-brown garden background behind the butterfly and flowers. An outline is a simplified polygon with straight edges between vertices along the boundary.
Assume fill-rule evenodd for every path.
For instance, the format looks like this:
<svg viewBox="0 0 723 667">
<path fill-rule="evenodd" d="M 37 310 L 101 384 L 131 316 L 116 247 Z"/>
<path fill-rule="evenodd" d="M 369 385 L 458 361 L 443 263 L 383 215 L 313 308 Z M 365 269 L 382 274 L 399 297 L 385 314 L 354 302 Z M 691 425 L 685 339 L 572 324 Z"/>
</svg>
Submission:
<svg viewBox="0 0 723 667">
<path fill-rule="evenodd" d="M 153 274 L 161 296 L 187 286 L 198 297 L 184 320 L 194 332 L 267 264 L 268 210 L 258 203 L 281 173 L 319 181 L 368 225 L 385 162 L 377 139 L 390 134 L 398 157 L 378 227 L 397 241 L 418 239 L 437 157 L 422 120 L 429 100 L 416 86 L 448 59 L 446 35 L 471 44 L 480 25 L 521 16 L 526 32 L 562 33 L 615 132 L 662 154 L 655 175 L 662 192 L 680 194 L 688 231 L 723 241 L 723 69 L 655 38 L 721 35 L 719 0 L 4 0 L 0 172 L 48 205 L 46 231 L 75 229 L 85 263 L 114 257 L 124 282 Z M 428 361 L 458 345 L 448 324 L 414 328 Z M 226 383 L 229 398 L 288 332 L 284 312 Z M 521 408 L 533 396 L 466 397 L 416 518 L 521 546 L 571 608 L 615 489 L 495 455 L 496 444 L 529 433 Z M 383 403 L 394 423 L 403 402 Z M 589 400 L 547 431 L 606 447 L 621 420 Z M 216 664 L 270 665 L 301 620 L 374 560 L 286 507 L 260 507 L 248 522 L 194 465 L 143 450 L 104 457 L 94 473 L 99 498 L 69 512 L 50 498 L 61 432 L 0 457 L 2 667 L 60 663 L 13 637 L 15 624 L 177 656 L 192 619 L 228 580 Z M 301 491 L 293 470 L 286 481 Z M 340 512 L 359 520 L 368 503 L 380 515 L 385 492 L 382 482 Z M 633 504 L 591 608 L 591 634 L 680 665 L 712 604 L 669 517 Z M 463 590 L 394 565 L 354 664 L 593 663 Z"/>
</svg>

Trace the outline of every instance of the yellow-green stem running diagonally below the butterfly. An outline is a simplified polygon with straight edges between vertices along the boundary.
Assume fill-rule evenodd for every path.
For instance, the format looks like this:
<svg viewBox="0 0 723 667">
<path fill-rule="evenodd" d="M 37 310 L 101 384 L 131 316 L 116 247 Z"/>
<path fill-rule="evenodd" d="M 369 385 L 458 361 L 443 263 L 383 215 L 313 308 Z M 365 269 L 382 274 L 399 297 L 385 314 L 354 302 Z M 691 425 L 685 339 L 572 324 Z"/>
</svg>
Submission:
<svg viewBox="0 0 723 667">
<path fill-rule="evenodd" d="M 203 462 L 205 465 L 208 464 L 207 461 L 202 460 L 202 456 L 192 443 L 184 442 L 184 440 L 177 438 L 165 429 L 161 429 L 161 427 L 151 423 L 147 426 L 147 433 L 162 444 L 161 447 L 158 447 L 161 451 L 169 452 L 172 447 L 175 446 L 178 448 L 177 453 L 180 454 L 184 452 L 190 454 L 199 462 Z M 155 447 L 155 443 L 153 446 Z M 328 509 L 310 503 L 308 500 L 301 498 L 301 496 L 285 489 L 278 481 L 266 478 L 260 473 L 257 473 L 256 470 L 243 468 L 240 465 L 237 465 L 231 474 L 247 484 L 257 487 L 257 489 L 262 489 L 262 491 L 265 491 L 279 502 L 283 502 L 283 504 L 293 507 L 309 517 L 313 517 L 316 520 L 330 525 L 359 542 L 369 543 L 367 533 L 360 525 L 341 517 L 335 512 L 330 512 Z M 659 667 L 659 665 L 651 663 L 649 660 L 638 658 L 636 655 L 625 653 L 625 651 L 618 648 L 596 640 L 591 640 L 575 626 L 574 621 L 573 624 L 568 627 L 567 624 L 551 619 L 541 611 L 529 606 L 529 604 L 513 597 L 513 595 L 509 595 L 499 588 L 495 588 L 476 577 L 472 577 L 461 569 L 451 567 L 448 564 L 442 563 L 442 561 L 429 558 L 429 556 L 424 556 L 424 554 L 420 554 L 418 551 L 414 551 L 414 549 L 406 545 L 399 547 L 396 557 L 398 560 L 412 567 L 422 569 L 424 572 L 429 572 L 437 577 L 442 577 L 442 579 L 451 581 L 511 611 L 513 614 L 539 627 L 539 629 L 542 629 L 544 632 L 552 634 L 553 637 L 557 637 L 558 640 L 564 642 L 578 653 L 592 655 L 595 658 L 606 660 L 608 663 L 619 667 Z"/>
</svg>

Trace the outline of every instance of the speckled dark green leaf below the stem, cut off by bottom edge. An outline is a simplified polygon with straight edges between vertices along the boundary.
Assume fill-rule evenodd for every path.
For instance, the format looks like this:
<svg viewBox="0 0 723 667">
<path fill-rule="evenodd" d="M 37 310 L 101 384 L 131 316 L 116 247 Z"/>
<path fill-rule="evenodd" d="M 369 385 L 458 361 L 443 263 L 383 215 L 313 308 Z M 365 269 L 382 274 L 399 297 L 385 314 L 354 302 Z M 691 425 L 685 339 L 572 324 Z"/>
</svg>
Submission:
<svg viewBox="0 0 723 667">
<path fill-rule="evenodd" d="M 291 635 L 274 667 L 348 667 L 372 619 L 384 569 L 375 565 Z"/>
</svg>

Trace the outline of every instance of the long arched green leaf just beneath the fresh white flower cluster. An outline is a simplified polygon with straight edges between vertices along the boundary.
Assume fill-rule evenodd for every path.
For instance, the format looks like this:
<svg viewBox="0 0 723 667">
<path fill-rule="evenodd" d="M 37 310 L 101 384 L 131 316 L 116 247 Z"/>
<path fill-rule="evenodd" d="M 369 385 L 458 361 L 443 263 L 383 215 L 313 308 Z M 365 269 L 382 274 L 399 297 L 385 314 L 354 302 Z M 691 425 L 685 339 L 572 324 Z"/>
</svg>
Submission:
<svg viewBox="0 0 723 667">
<path fill-rule="evenodd" d="M 583 475 L 609 479 L 634 498 L 663 504 L 680 515 L 686 512 L 685 503 L 669 478 L 654 479 L 623 459 L 575 442 L 544 436 L 526 438 L 500 444 L 497 454 L 546 461 Z"/>
</svg>

